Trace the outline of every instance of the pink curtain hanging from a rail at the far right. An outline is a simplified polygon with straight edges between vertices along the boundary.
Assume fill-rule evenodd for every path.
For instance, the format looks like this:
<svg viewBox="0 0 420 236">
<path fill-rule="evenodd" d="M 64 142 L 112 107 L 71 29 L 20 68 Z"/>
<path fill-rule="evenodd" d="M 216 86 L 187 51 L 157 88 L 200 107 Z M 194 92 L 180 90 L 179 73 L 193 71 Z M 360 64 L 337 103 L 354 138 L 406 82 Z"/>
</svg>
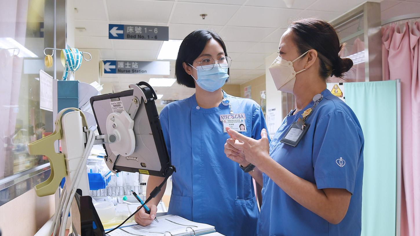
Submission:
<svg viewBox="0 0 420 236">
<path fill-rule="evenodd" d="M 420 23 L 391 25 L 383 33 L 383 79 L 401 79 L 401 235 L 420 235 Z"/>
</svg>

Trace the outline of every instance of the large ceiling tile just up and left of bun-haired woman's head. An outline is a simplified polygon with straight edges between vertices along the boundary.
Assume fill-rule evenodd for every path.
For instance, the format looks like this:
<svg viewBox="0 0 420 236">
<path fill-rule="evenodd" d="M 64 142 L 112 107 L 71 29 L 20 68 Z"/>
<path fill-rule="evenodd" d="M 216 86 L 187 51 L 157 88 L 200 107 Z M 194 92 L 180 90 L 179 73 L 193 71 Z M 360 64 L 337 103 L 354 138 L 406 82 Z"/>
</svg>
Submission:
<svg viewBox="0 0 420 236">
<path fill-rule="evenodd" d="M 278 28 L 286 26 L 301 10 L 265 7 L 241 7 L 229 20 L 228 26 Z"/>
</svg>

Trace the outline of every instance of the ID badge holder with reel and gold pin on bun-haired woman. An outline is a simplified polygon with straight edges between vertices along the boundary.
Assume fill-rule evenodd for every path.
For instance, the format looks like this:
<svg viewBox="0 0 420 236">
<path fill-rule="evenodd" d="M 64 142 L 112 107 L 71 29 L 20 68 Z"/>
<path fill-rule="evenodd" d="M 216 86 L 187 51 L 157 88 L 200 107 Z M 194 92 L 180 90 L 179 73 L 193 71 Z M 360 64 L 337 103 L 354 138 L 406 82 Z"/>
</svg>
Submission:
<svg viewBox="0 0 420 236">
<path fill-rule="evenodd" d="M 306 119 L 309 117 L 315 106 L 317 106 L 322 99 L 323 96 L 319 93 L 313 97 L 312 101 L 314 102 L 314 105 L 303 112 L 302 118 L 299 117 L 297 121 L 291 124 L 289 130 L 287 130 L 286 132 L 286 135 L 284 135 L 283 138 L 281 138 L 281 143 L 286 143 L 293 147 L 297 146 L 297 144 L 300 142 L 302 137 L 306 134 L 306 132 L 309 129 L 310 124 L 305 123 Z"/>
</svg>

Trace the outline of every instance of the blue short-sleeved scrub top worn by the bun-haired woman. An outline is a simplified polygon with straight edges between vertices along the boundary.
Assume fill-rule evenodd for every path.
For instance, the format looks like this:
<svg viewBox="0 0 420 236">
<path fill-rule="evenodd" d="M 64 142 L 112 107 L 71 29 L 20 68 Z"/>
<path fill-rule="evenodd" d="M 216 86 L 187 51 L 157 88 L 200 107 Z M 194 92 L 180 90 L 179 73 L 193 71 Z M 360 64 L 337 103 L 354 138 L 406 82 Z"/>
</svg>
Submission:
<svg viewBox="0 0 420 236">
<path fill-rule="evenodd" d="M 318 189 L 339 188 L 352 193 L 349 209 L 339 224 L 328 223 L 303 207 L 267 175 L 263 175 L 259 233 L 262 236 L 360 236 L 364 137 L 357 117 L 330 91 L 307 118 L 307 133 L 296 147 L 281 143 L 291 123 L 313 106 L 292 111 L 270 143 L 270 157 Z"/>
</svg>

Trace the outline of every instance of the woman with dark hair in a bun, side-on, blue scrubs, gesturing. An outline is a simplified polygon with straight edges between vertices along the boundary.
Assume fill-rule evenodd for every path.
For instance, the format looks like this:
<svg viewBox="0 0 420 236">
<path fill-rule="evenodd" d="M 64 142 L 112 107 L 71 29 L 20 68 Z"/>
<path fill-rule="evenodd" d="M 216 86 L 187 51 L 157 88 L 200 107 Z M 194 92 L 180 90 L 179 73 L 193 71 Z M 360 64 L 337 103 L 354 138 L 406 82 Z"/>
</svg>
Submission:
<svg viewBox="0 0 420 236">
<path fill-rule="evenodd" d="M 333 27 L 302 19 L 280 39 L 269 67 L 278 90 L 293 93 L 297 108 L 271 142 L 229 130 L 229 158 L 245 154 L 263 172 L 261 236 L 360 236 L 364 138 L 352 109 L 326 89 L 353 65 Z M 233 152 L 232 150 L 235 150 Z M 260 172 L 260 173 L 261 173 Z"/>
</svg>

